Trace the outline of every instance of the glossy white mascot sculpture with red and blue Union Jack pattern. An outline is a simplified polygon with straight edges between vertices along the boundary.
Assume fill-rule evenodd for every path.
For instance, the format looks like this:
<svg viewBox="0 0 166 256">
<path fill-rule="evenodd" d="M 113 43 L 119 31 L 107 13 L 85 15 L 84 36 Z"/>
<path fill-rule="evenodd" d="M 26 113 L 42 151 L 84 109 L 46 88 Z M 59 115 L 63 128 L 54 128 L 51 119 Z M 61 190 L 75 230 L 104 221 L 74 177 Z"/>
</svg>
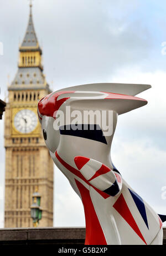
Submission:
<svg viewBox="0 0 166 256">
<path fill-rule="evenodd" d="M 118 115 L 146 105 L 146 100 L 135 96 L 149 88 L 146 84 L 85 84 L 51 93 L 38 103 L 51 158 L 84 205 L 85 244 L 163 243 L 164 215 L 155 213 L 126 183 L 110 155 Z"/>
</svg>

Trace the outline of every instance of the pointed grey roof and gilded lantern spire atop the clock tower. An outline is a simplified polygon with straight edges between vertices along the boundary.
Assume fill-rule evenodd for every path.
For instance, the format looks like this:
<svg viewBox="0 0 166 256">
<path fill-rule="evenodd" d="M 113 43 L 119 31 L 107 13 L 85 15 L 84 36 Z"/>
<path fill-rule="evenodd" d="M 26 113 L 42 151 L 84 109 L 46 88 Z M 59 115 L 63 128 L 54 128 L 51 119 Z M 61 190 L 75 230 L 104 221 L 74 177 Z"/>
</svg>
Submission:
<svg viewBox="0 0 166 256">
<path fill-rule="evenodd" d="M 29 4 L 30 14 L 28 17 L 27 29 L 19 47 L 18 72 L 9 87 L 11 89 L 18 88 L 21 84 L 24 88 L 32 87 L 48 87 L 43 74 L 42 65 L 42 49 L 39 46 L 38 39 L 34 29 L 32 15 L 32 0 Z"/>
</svg>

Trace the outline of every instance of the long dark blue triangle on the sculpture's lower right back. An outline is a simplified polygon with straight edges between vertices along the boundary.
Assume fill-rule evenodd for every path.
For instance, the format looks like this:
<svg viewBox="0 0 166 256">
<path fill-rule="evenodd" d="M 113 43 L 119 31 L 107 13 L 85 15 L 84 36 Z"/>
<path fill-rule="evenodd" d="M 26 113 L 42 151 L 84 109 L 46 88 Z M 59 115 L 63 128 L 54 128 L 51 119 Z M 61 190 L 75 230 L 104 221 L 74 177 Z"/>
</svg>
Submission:
<svg viewBox="0 0 166 256">
<path fill-rule="evenodd" d="M 136 206 L 139 210 L 139 213 L 141 214 L 141 216 L 144 220 L 144 223 L 147 225 L 147 228 L 149 229 L 146 208 L 144 206 L 143 199 L 136 192 L 132 191 L 131 189 L 128 189 L 128 190 L 132 195 L 134 203 L 136 204 Z"/>
</svg>

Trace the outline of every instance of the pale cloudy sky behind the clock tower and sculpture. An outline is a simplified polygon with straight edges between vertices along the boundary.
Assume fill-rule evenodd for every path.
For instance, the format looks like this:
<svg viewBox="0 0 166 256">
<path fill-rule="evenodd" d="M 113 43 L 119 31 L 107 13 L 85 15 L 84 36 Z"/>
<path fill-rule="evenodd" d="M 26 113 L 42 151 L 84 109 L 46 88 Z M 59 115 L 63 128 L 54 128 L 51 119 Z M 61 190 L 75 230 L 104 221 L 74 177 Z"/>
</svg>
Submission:
<svg viewBox="0 0 166 256">
<path fill-rule="evenodd" d="M 0 97 L 17 72 L 28 23 L 26 0 L 0 0 Z M 111 157 L 126 181 L 157 213 L 166 214 L 166 2 L 163 0 L 35 0 L 33 20 L 51 89 L 94 82 L 146 83 L 148 105 L 118 118 Z M 164 44 L 164 43 L 163 43 Z M 166 43 L 165 43 L 166 45 Z M 4 149 L 0 122 L 0 227 Z M 84 226 L 84 210 L 55 167 L 54 226 Z M 166 224 L 165 224 L 166 225 Z"/>
</svg>

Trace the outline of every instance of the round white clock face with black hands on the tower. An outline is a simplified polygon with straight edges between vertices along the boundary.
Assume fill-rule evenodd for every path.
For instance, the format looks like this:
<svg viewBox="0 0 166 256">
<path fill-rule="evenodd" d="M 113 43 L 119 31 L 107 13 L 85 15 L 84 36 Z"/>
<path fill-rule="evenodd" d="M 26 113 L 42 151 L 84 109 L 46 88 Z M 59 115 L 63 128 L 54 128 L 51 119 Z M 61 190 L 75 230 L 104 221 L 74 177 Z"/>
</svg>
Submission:
<svg viewBox="0 0 166 256">
<path fill-rule="evenodd" d="M 38 119 L 30 109 L 19 111 L 14 117 L 14 126 L 20 133 L 31 133 L 37 127 Z"/>
</svg>

